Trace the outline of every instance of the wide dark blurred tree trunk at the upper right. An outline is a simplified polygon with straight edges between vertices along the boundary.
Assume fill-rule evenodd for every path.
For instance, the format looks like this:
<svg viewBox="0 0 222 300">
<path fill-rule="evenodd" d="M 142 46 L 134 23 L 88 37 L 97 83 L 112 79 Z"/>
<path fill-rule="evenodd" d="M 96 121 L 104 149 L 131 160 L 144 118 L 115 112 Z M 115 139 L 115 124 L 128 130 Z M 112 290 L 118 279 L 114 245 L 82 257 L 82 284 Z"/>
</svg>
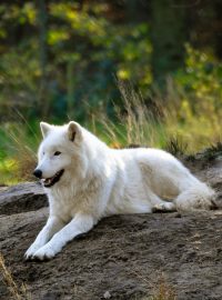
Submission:
<svg viewBox="0 0 222 300">
<path fill-rule="evenodd" d="M 151 40 L 153 78 L 161 84 L 165 77 L 183 66 L 188 39 L 186 8 L 175 0 L 151 1 Z"/>
</svg>

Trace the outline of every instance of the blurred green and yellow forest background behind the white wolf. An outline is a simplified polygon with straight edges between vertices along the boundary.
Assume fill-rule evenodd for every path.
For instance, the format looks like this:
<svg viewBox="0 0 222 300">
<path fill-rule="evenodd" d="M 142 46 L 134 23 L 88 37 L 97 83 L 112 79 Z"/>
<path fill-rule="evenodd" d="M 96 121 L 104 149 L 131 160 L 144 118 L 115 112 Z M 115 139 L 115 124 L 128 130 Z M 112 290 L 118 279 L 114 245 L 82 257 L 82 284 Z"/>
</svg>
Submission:
<svg viewBox="0 0 222 300">
<path fill-rule="evenodd" d="M 30 173 L 40 120 L 117 148 L 220 142 L 221 13 L 220 0 L 1 1 L 1 182 Z"/>
</svg>

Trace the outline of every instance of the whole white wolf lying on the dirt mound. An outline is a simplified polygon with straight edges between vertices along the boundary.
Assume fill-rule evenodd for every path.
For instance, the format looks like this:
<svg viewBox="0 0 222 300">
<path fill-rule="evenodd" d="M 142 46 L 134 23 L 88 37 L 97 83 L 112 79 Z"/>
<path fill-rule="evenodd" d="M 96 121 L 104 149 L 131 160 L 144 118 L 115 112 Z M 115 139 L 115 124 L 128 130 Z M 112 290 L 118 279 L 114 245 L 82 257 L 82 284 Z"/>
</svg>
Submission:
<svg viewBox="0 0 222 300">
<path fill-rule="evenodd" d="M 53 258 L 110 214 L 212 206 L 213 190 L 165 151 L 111 149 L 73 121 L 40 127 L 43 141 L 34 174 L 42 180 L 50 211 L 27 259 Z"/>
</svg>

